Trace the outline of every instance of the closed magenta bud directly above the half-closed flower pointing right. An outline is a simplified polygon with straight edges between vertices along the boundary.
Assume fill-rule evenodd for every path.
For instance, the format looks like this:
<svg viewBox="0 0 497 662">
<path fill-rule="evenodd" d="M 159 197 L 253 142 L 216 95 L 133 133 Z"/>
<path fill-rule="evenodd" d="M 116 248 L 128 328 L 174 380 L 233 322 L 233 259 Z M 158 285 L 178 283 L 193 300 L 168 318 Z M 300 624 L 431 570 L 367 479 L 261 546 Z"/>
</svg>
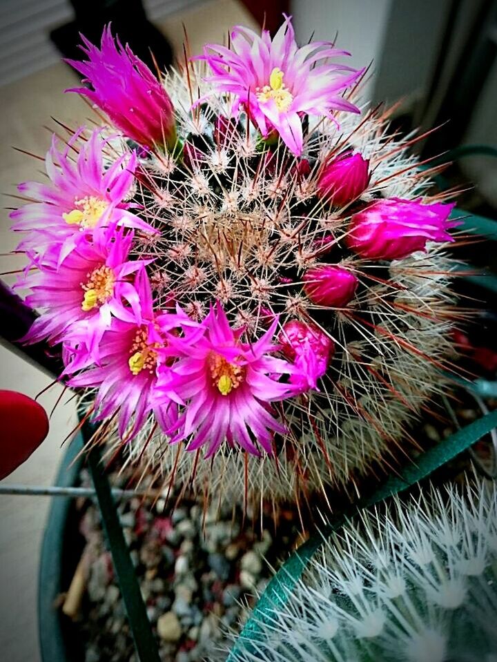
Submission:
<svg viewBox="0 0 497 662">
<path fill-rule="evenodd" d="M 327 162 L 318 178 L 318 195 L 342 207 L 357 199 L 369 185 L 369 161 L 347 152 Z"/>
</svg>

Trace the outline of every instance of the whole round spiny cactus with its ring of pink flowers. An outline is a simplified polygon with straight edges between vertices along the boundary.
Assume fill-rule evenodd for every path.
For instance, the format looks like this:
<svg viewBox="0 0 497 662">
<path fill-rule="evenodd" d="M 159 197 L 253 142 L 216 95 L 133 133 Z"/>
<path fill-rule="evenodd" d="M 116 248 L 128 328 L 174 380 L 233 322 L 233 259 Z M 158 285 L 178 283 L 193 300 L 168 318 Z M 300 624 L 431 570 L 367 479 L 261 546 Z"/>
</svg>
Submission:
<svg viewBox="0 0 497 662">
<path fill-rule="evenodd" d="M 19 186 L 26 341 L 61 343 L 95 418 L 166 475 L 285 498 L 364 471 L 439 388 L 453 205 L 289 17 L 163 81 L 109 28 L 83 50 L 70 91 L 109 124 L 54 137 L 49 182 Z"/>
</svg>

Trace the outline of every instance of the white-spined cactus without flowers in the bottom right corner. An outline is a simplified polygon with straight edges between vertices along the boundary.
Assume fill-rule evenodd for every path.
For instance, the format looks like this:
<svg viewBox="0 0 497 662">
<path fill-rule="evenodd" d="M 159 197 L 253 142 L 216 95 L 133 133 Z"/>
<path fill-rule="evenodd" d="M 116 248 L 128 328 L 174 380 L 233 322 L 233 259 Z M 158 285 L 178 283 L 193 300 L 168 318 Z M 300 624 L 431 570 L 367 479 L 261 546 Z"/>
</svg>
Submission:
<svg viewBox="0 0 497 662">
<path fill-rule="evenodd" d="M 493 660 L 496 487 L 428 494 L 333 534 L 233 660 Z"/>
</svg>

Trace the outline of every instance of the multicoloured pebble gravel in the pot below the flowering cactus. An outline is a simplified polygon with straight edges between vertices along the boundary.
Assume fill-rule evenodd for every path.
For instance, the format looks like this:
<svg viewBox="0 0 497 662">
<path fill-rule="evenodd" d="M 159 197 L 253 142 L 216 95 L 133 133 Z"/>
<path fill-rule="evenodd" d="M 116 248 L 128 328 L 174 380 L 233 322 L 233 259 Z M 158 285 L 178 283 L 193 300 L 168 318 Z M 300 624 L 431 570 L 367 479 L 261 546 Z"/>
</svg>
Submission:
<svg viewBox="0 0 497 662">
<path fill-rule="evenodd" d="M 110 474 L 116 487 L 129 478 Z M 90 485 L 86 471 L 81 483 Z M 172 509 L 176 496 L 155 504 L 136 498 L 118 506 L 148 619 L 162 662 L 224 661 L 231 645 L 228 632 L 240 630 L 244 605 L 253 605 L 254 592 L 271 576 L 263 556 L 277 565 L 291 552 L 298 518 L 292 510 L 286 513 L 273 544 L 272 509 L 264 514 L 261 532 L 241 511 L 233 518 L 232 507 L 224 511 L 216 505 L 204 512 L 202 503 L 184 499 Z M 99 511 L 90 500 L 79 505 L 90 559 L 77 622 L 84 662 L 138 662 Z"/>
</svg>

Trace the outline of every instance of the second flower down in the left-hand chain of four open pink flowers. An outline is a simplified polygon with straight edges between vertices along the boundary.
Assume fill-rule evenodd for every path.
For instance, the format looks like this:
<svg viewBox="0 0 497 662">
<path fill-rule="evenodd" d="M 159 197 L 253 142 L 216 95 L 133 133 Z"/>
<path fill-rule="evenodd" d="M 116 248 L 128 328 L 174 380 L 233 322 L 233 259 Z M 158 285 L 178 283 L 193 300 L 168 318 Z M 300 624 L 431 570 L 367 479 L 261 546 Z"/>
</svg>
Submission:
<svg viewBox="0 0 497 662">
<path fill-rule="evenodd" d="M 57 246 L 35 259 L 38 270 L 28 272 L 17 287 L 29 288 L 26 303 L 46 312 L 24 340 L 59 342 L 83 323 L 84 344 L 97 361 L 99 341 L 113 316 L 128 320 L 140 315 L 139 296 L 130 276 L 146 262 L 128 260 L 132 242 L 133 232 L 124 235 L 124 228 L 97 228 L 93 241 L 82 235 L 61 264 Z"/>
</svg>

